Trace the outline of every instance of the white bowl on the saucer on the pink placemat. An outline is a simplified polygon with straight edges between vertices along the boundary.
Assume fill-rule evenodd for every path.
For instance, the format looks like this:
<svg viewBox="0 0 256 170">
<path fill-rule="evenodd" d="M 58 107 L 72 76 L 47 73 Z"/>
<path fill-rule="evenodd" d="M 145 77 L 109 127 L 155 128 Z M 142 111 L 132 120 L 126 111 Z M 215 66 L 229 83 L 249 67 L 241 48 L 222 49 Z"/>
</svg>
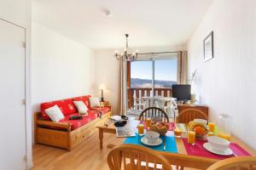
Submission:
<svg viewBox="0 0 256 170">
<path fill-rule="evenodd" d="M 227 139 L 219 138 L 218 136 L 209 136 L 208 143 L 213 150 L 224 151 L 229 149 L 230 141 Z"/>
</svg>

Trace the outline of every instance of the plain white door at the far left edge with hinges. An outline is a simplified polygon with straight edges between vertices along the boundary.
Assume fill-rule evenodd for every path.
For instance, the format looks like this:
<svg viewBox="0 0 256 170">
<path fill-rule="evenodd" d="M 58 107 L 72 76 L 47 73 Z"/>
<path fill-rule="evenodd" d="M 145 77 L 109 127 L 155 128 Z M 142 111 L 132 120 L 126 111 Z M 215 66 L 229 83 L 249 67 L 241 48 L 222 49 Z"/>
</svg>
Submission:
<svg viewBox="0 0 256 170">
<path fill-rule="evenodd" d="M 0 20 L 0 169 L 26 169 L 25 29 Z"/>
</svg>

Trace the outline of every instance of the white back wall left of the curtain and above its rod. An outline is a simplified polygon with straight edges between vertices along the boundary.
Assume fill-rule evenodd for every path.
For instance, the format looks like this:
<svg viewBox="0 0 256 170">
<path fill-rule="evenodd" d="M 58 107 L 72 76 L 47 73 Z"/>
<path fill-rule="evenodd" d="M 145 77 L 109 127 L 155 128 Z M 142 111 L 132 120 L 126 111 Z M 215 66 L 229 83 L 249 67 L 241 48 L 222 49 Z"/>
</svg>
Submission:
<svg viewBox="0 0 256 170">
<path fill-rule="evenodd" d="M 163 52 L 183 50 L 183 45 L 173 47 L 154 47 L 154 48 L 134 48 L 139 53 Z M 116 49 L 97 49 L 95 50 L 95 82 L 96 89 L 104 84 L 108 89 L 104 93 L 104 99 L 108 100 L 113 107 L 113 114 L 117 113 L 118 90 L 119 90 L 119 62 L 113 54 Z M 120 49 L 118 49 L 121 51 Z M 96 90 L 96 95 L 101 96 L 100 90 Z"/>
</svg>

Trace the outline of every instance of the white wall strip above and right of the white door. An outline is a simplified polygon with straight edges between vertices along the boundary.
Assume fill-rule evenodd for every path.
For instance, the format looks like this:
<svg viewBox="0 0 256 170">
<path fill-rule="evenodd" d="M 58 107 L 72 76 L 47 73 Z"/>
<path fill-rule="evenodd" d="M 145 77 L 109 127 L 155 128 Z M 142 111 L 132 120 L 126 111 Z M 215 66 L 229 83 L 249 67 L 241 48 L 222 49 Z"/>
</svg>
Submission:
<svg viewBox="0 0 256 170">
<path fill-rule="evenodd" d="M 26 167 L 32 167 L 32 114 L 30 105 L 31 6 L 31 0 L 0 1 L 0 18 L 26 28 Z"/>
</svg>

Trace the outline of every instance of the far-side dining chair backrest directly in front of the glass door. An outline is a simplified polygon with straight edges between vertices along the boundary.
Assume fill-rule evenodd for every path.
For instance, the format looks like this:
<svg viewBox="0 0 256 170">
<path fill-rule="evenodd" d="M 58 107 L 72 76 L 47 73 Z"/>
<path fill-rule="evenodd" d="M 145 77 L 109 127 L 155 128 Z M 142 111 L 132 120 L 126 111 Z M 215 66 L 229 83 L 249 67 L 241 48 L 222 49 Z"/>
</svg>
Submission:
<svg viewBox="0 0 256 170">
<path fill-rule="evenodd" d="M 160 117 L 162 122 L 169 122 L 169 118 L 165 111 L 161 110 L 158 107 L 148 107 L 144 111 L 142 111 L 139 116 L 140 121 L 146 121 L 147 117 Z"/>
</svg>

